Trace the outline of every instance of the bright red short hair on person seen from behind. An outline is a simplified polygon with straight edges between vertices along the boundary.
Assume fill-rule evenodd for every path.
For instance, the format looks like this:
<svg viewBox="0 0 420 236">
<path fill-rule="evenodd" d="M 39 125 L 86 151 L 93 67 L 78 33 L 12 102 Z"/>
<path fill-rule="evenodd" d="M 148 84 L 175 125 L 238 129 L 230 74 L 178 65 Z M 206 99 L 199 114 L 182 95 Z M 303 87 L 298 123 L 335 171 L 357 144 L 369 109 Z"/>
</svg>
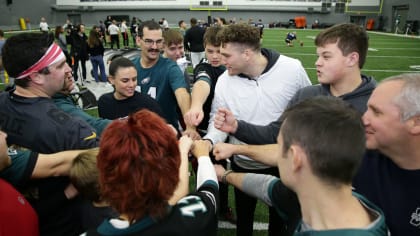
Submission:
<svg viewBox="0 0 420 236">
<path fill-rule="evenodd" d="M 176 134 L 151 111 L 115 120 L 101 137 L 97 157 L 104 200 L 133 223 L 161 217 L 179 182 Z"/>
</svg>

